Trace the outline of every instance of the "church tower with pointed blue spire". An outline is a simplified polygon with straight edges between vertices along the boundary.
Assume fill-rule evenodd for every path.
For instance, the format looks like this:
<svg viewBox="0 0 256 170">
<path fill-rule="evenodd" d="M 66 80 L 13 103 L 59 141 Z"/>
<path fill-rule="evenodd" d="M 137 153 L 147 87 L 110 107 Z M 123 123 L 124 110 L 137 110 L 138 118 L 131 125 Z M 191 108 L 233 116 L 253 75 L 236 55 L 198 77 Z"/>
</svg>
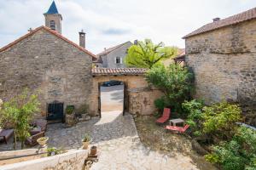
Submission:
<svg viewBox="0 0 256 170">
<path fill-rule="evenodd" d="M 55 5 L 55 1 L 51 3 L 48 11 L 44 13 L 44 17 L 45 17 L 45 26 L 61 34 L 62 16 L 58 12 L 58 9 Z"/>
</svg>

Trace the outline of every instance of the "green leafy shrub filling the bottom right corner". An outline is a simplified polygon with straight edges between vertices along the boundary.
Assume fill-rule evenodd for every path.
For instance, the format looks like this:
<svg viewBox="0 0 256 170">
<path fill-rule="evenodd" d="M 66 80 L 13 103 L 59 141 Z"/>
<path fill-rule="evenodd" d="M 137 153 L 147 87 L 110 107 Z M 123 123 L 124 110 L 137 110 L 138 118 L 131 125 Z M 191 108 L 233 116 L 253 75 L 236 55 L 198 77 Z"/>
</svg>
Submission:
<svg viewBox="0 0 256 170">
<path fill-rule="evenodd" d="M 256 132 L 238 127 L 230 142 L 213 147 L 213 153 L 205 156 L 207 161 L 218 163 L 224 170 L 256 169 Z"/>
</svg>

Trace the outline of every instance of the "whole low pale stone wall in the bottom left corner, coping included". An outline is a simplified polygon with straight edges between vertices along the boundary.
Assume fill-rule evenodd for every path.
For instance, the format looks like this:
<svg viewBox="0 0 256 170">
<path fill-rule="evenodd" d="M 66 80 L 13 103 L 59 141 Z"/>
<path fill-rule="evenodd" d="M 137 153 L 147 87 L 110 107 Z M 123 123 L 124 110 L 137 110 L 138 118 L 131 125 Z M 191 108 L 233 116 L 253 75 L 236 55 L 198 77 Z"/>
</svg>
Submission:
<svg viewBox="0 0 256 170">
<path fill-rule="evenodd" d="M 88 150 L 70 150 L 67 153 L 44 157 L 32 161 L 22 161 L 20 163 L 0 166 L 1 170 L 50 170 L 50 169 L 84 169 L 84 160 L 88 156 Z"/>
</svg>

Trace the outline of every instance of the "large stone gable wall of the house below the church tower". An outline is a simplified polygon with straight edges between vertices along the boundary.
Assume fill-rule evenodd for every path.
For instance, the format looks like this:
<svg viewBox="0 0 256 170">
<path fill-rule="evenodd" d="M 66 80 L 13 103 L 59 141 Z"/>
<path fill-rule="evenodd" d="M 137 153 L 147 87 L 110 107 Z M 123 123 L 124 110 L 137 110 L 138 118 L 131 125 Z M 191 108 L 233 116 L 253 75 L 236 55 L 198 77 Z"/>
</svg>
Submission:
<svg viewBox="0 0 256 170">
<path fill-rule="evenodd" d="M 0 53 L 0 97 L 4 87 L 40 90 L 42 116 L 53 101 L 89 104 L 91 65 L 90 55 L 42 29 Z"/>
</svg>

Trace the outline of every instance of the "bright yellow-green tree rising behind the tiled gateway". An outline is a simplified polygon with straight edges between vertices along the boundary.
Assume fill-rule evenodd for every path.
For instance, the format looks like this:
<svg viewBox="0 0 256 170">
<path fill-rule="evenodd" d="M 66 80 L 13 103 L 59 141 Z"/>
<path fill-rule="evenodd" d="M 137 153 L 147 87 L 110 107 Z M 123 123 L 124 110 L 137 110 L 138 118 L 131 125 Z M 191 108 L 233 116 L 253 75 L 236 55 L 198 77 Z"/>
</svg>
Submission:
<svg viewBox="0 0 256 170">
<path fill-rule="evenodd" d="M 177 48 L 165 47 L 163 42 L 154 44 L 150 39 L 139 41 L 128 49 L 125 64 L 130 67 L 152 68 L 161 59 L 177 55 Z"/>
</svg>

